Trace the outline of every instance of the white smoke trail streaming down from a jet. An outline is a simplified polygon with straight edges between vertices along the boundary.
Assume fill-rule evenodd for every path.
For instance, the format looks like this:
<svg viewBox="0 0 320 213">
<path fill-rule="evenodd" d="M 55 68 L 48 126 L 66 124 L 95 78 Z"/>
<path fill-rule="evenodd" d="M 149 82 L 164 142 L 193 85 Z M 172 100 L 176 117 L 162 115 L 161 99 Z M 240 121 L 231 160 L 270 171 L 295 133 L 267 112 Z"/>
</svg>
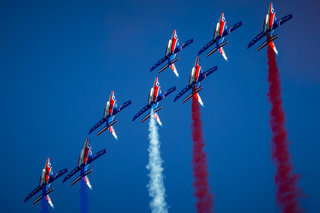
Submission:
<svg viewBox="0 0 320 213">
<path fill-rule="evenodd" d="M 160 156 L 160 141 L 158 128 L 153 117 L 153 109 L 151 109 L 149 122 L 149 163 L 147 169 L 150 170 L 150 180 L 147 184 L 149 196 L 151 197 L 150 208 L 152 213 L 168 212 L 168 206 L 165 201 L 166 190 L 163 184 L 162 175 L 162 159 Z"/>
</svg>

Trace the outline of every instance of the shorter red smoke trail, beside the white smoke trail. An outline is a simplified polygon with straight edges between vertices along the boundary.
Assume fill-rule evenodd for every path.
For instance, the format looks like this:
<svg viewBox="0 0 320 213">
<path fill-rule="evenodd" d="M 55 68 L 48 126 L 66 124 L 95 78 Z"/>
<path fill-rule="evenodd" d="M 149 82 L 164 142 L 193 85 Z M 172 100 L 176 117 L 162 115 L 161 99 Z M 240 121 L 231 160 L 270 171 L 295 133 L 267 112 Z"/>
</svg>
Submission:
<svg viewBox="0 0 320 213">
<path fill-rule="evenodd" d="M 199 213 L 213 212 L 213 194 L 210 194 L 208 182 L 209 172 L 207 156 L 203 150 L 204 138 L 202 136 L 202 122 L 200 106 L 195 97 L 192 97 L 192 170 L 194 196 L 197 198 L 196 208 Z"/>
</svg>

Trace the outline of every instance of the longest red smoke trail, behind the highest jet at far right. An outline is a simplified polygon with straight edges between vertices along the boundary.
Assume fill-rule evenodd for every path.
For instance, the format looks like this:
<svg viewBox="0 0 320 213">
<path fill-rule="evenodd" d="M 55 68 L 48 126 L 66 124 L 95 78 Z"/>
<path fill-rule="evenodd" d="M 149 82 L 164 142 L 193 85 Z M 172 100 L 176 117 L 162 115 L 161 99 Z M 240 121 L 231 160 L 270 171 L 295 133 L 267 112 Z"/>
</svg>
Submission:
<svg viewBox="0 0 320 213">
<path fill-rule="evenodd" d="M 270 127 L 272 130 L 272 160 L 276 164 L 274 178 L 277 186 L 276 200 L 284 213 L 303 212 L 299 208 L 298 199 L 302 191 L 297 187 L 299 175 L 293 174 L 293 165 L 289 153 L 289 142 L 285 129 L 285 114 L 281 100 L 281 80 L 276 56 L 268 47 L 268 100 L 271 104 Z"/>
</svg>

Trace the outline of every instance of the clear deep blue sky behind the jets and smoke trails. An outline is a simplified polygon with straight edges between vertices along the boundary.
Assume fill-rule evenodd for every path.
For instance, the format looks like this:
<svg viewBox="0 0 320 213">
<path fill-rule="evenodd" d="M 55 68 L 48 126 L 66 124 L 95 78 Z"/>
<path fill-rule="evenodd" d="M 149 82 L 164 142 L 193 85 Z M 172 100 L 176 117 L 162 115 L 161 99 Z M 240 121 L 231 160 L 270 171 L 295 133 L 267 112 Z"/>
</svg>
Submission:
<svg viewBox="0 0 320 213">
<path fill-rule="evenodd" d="M 306 198 L 306 212 L 320 212 L 319 13 L 316 1 L 276 1 L 281 27 L 275 41 L 282 77 L 286 127 L 295 172 Z M 38 1 L 0 3 L 0 116 L 2 212 L 39 212 L 23 203 L 38 184 L 46 157 L 55 171 L 77 164 L 88 130 L 103 114 L 111 90 L 119 113 L 111 134 L 91 137 L 93 151 L 108 153 L 94 163 L 89 193 L 91 212 L 149 212 L 145 168 L 147 125 L 133 115 L 147 103 L 156 72 L 174 29 L 181 41 L 194 38 L 176 67 L 159 75 L 163 89 L 181 90 L 199 49 L 213 36 L 221 14 L 227 23 L 243 21 L 225 47 L 229 62 L 213 54 L 201 57 L 203 69 L 219 70 L 204 81 L 201 97 L 205 150 L 216 212 L 277 212 L 270 158 L 266 98 L 266 51 L 246 46 L 262 30 L 269 1 Z M 195 212 L 191 170 L 191 102 L 163 102 L 162 142 L 170 212 Z M 54 212 L 80 211 L 80 185 L 54 183 Z"/>
</svg>

